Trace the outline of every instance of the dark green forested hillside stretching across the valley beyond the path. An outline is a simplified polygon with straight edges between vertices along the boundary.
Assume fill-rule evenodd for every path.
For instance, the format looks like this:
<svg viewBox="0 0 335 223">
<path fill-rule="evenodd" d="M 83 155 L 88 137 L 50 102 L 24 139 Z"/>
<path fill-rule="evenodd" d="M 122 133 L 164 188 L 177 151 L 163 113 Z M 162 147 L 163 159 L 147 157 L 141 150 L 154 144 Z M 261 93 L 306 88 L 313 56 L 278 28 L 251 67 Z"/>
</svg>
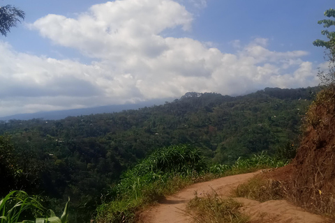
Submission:
<svg viewBox="0 0 335 223">
<path fill-rule="evenodd" d="M 0 156 L 8 182 L 0 185 L 0 195 L 24 189 L 52 202 L 70 197 L 77 221 L 83 222 L 122 171 L 158 148 L 191 144 L 207 162 L 220 164 L 262 151 L 278 156 L 294 151 L 301 118 L 316 91 L 267 88 L 238 97 L 186 93 L 138 110 L 1 121 L 0 150 L 10 152 Z"/>
</svg>

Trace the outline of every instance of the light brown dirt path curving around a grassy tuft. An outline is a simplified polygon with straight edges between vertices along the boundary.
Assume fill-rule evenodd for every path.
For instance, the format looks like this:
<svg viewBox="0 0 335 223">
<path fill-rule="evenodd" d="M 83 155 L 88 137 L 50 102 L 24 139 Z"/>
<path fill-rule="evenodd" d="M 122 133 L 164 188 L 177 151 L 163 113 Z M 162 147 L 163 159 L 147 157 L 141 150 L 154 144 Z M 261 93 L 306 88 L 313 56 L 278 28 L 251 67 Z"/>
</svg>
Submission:
<svg viewBox="0 0 335 223">
<path fill-rule="evenodd" d="M 230 192 L 239 184 L 255 176 L 257 173 L 239 174 L 235 176 L 226 176 L 203 183 L 195 183 L 190 187 L 181 190 L 177 194 L 167 197 L 160 201 L 158 205 L 145 210 L 140 215 L 140 222 L 144 223 L 188 223 L 193 222 L 191 217 L 184 214 L 182 210 L 186 209 L 189 200 L 194 197 L 195 192 L 205 194 L 214 189 L 218 194 L 229 196 Z M 237 201 L 243 203 L 241 211 L 251 217 L 251 222 L 267 223 L 321 223 L 327 220 L 319 215 L 307 213 L 301 208 L 293 206 L 288 201 L 267 201 L 260 203 L 249 199 L 237 198 Z"/>
</svg>

